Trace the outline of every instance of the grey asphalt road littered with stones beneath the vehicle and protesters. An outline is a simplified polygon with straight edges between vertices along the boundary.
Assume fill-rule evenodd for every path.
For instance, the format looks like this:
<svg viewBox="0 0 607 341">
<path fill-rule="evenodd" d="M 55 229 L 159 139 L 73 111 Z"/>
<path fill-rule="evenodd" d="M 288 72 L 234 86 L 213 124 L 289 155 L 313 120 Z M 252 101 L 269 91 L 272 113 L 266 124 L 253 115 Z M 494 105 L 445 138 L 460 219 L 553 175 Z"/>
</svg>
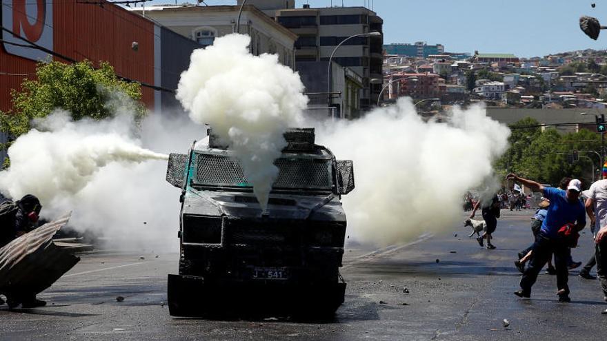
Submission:
<svg viewBox="0 0 607 341">
<path fill-rule="evenodd" d="M 606 340 L 599 283 L 577 270 L 570 273 L 570 303 L 557 302 L 556 278 L 544 274 L 531 300 L 513 295 L 520 278 L 513 260 L 531 239 L 529 214 L 504 211 L 495 250 L 481 249 L 459 225 L 401 247 L 350 245 L 341 271 L 346 302 L 335 320 L 322 323 L 172 318 L 164 304 L 166 276 L 177 271 L 177 254 L 86 254 L 41 293 L 48 307 L 0 306 L 0 339 Z M 588 233 L 580 239 L 573 255 L 585 261 L 592 241 Z"/>
</svg>

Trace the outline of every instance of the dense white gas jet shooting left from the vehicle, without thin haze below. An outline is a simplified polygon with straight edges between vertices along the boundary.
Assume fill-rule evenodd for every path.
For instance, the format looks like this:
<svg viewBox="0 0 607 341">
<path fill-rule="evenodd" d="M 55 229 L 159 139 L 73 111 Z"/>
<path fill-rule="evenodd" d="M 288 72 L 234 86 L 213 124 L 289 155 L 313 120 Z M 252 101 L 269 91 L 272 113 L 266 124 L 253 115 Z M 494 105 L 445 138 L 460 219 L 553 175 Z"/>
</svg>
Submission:
<svg viewBox="0 0 607 341">
<path fill-rule="evenodd" d="M 54 112 L 34 125 L 38 129 L 12 143 L 8 149 L 10 168 L 0 172 L 0 188 L 17 198 L 28 193 L 43 201 L 73 196 L 110 163 L 168 158 L 122 138 L 118 132 L 94 132 L 90 121 L 74 123 L 67 112 Z"/>
</svg>

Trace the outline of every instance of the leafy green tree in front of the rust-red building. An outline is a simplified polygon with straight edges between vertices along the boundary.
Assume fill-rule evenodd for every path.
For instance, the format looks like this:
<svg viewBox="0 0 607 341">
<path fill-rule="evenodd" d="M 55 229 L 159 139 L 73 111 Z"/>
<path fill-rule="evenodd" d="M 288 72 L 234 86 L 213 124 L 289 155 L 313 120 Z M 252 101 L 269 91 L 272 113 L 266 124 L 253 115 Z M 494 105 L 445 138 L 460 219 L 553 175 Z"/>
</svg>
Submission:
<svg viewBox="0 0 607 341">
<path fill-rule="evenodd" d="M 33 118 L 47 116 L 57 108 L 70 112 L 76 121 L 84 117 L 101 120 L 125 105 L 136 118 L 146 114 L 146 107 L 139 102 L 140 85 L 121 81 L 109 63 L 95 69 L 89 61 L 52 61 L 39 63 L 36 74 L 37 79 L 21 83 L 21 90 L 12 90 L 12 111 L 0 112 L 0 129 L 13 140 L 30 130 Z"/>
</svg>

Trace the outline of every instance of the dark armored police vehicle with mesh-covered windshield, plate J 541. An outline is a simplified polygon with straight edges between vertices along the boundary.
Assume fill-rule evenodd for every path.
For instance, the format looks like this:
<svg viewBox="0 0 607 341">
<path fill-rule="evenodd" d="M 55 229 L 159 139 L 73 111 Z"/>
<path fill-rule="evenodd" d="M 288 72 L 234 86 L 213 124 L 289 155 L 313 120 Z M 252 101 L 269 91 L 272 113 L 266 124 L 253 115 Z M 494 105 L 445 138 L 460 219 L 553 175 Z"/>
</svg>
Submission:
<svg viewBox="0 0 607 341">
<path fill-rule="evenodd" d="M 170 154 L 166 180 L 181 188 L 179 274 L 168 278 L 172 316 L 327 316 L 344 302 L 340 198 L 354 189 L 352 161 L 316 145 L 313 128 L 284 137 L 266 211 L 238 159 L 212 132 L 208 144 Z"/>
</svg>

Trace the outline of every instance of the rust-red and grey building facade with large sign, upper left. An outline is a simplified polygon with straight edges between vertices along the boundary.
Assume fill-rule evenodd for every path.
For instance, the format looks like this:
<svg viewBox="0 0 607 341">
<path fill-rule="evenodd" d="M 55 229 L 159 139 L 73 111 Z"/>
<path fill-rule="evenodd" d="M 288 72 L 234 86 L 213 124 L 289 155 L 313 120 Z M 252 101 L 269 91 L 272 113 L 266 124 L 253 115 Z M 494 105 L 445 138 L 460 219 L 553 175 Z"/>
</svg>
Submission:
<svg viewBox="0 0 607 341">
<path fill-rule="evenodd" d="M 200 46 L 153 21 L 105 0 L 93 6 L 77 0 L 2 1 L 3 43 L 0 48 L 0 110 L 10 111 L 10 92 L 24 78 L 34 79 L 36 63 L 53 59 L 107 61 L 119 76 L 142 84 L 142 101 L 160 110 L 163 99 L 175 103 L 179 74 Z M 36 8 L 46 8 L 37 12 Z M 32 22 L 34 24 L 32 24 Z M 21 32 L 12 30 L 17 27 Z M 25 40 L 52 51 L 23 48 Z M 134 46 L 137 48 L 134 48 Z"/>
</svg>

